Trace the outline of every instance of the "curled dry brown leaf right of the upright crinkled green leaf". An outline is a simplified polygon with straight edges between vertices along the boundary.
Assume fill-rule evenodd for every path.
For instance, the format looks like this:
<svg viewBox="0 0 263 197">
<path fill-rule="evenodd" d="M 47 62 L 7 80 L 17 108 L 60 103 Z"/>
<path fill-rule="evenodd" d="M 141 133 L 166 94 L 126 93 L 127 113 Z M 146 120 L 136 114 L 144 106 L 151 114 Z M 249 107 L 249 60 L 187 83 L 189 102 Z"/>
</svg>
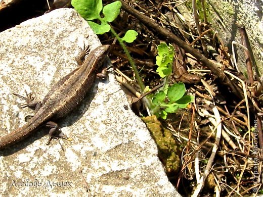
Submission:
<svg viewBox="0 0 263 197">
<path fill-rule="evenodd" d="M 176 59 L 173 61 L 173 73 L 177 74 L 177 81 L 199 83 L 201 78 L 197 75 L 189 74 L 186 70 L 185 51 L 179 46 L 175 46 L 174 53 Z"/>
</svg>

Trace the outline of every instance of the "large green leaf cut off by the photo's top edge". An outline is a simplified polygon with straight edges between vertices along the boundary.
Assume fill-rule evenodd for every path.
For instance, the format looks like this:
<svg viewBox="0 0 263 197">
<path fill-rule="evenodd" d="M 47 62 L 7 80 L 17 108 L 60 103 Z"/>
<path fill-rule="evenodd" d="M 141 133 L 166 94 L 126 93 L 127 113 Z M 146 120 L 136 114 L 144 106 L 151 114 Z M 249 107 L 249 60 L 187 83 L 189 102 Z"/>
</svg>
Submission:
<svg viewBox="0 0 263 197">
<path fill-rule="evenodd" d="M 101 0 L 72 0 L 71 5 L 86 20 L 100 19 Z"/>
</svg>

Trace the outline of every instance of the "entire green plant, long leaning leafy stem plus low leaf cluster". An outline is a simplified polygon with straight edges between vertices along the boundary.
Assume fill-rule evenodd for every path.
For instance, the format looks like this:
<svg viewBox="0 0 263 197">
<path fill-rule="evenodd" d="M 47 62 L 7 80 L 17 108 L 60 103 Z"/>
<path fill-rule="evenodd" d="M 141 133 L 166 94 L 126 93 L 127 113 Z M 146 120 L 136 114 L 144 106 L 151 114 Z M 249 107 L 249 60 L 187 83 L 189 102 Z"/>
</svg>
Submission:
<svg viewBox="0 0 263 197">
<path fill-rule="evenodd" d="M 72 0 L 71 4 L 74 9 L 85 20 L 87 20 L 87 23 L 89 23 L 96 34 L 103 34 L 111 31 L 111 33 L 117 38 L 127 58 L 129 59 L 131 68 L 134 70 L 135 77 L 138 81 L 138 84 L 140 85 L 141 91 L 144 92 L 145 85 L 139 76 L 137 67 L 124 44 L 124 41 L 129 43 L 133 42 L 136 39 L 138 33 L 134 30 L 128 30 L 125 35 L 120 38 L 109 24 L 109 22 L 114 21 L 119 15 L 121 3 L 117 1 L 103 7 L 101 0 Z M 104 17 L 101 16 L 101 12 Z M 92 20 L 97 20 L 100 22 L 100 24 Z M 157 49 L 157 72 L 162 78 L 165 78 L 164 88 L 155 94 L 152 100 L 146 98 L 145 103 L 150 108 L 152 114 L 166 119 L 167 113 L 174 113 L 179 108 L 185 108 L 190 102 L 193 101 L 193 98 L 189 95 L 184 95 L 186 89 L 183 83 L 176 83 L 170 87 L 168 86 L 168 81 L 172 70 L 171 65 L 173 61 L 173 46 L 171 44 L 167 46 L 166 43 L 161 43 Z"/>
</svg>

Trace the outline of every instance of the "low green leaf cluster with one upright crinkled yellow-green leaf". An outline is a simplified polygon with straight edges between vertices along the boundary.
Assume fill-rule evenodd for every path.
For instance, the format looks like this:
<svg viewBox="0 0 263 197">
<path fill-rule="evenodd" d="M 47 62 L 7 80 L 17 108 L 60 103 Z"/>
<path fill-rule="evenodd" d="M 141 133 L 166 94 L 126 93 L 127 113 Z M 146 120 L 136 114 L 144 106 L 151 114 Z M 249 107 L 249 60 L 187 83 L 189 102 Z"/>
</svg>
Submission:
<svg viewBox="0 0 263 197">
<path fill-rule="evenodd" d="M 167 118 L 168 113 L 175 113 L 179 108 L 186 108 L 189 103 L 193 102 L 194 97 L 185 95 L 186 88 L 182 82 L 174 83 L 169 86 L 168 81 L 171 75 L 171 65 L 173 62 L 173 46 L 166 43 L 160 43 L 157 46 L 158 56 L 156 64 L 157 72 L 160 77 L 165 78 L 164 88 L 152 97 L 153 113 L 162 119 Z"/>
</svg>

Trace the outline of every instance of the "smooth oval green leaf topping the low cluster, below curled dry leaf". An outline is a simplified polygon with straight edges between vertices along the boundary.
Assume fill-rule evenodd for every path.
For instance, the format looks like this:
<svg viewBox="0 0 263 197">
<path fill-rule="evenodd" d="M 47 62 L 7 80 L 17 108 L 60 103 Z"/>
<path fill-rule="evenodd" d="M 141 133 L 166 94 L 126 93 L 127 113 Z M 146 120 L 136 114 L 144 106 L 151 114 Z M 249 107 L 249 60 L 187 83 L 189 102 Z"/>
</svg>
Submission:
<svg viewBox="0 0 263 197">
<path fill-rule="evenodd" d="M 184 96 L 185 92 L 186 92 L 186 87 L 184 83 L 182 82 L 174 83 L 167 90 L 167 96 L 170 100 L 170 103 L 174 103 L 178 101 L 180 98 Z"/>
</svg>

